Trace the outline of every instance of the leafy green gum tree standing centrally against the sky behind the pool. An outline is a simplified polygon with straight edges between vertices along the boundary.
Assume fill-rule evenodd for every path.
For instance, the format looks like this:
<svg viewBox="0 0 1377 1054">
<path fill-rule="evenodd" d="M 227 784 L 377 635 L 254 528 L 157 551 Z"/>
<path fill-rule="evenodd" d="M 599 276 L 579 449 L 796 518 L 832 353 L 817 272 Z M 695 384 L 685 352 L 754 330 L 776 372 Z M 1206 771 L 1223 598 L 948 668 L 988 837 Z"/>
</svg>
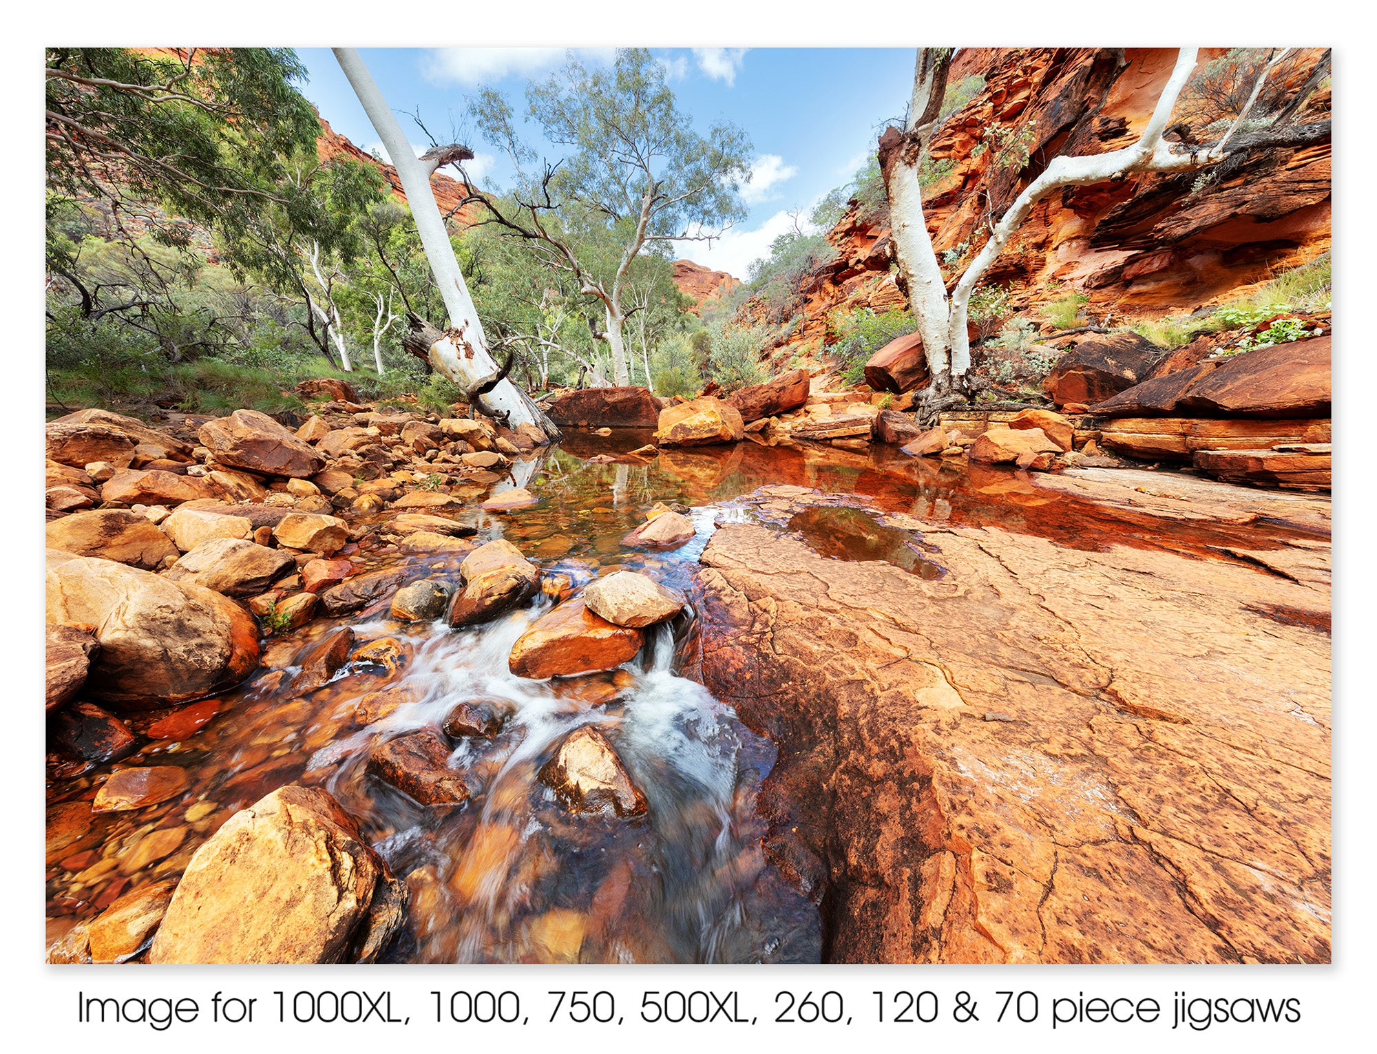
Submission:
<svg viewBox="0 0 1377 1054">
<path fill-rule="evenodd" d="M 527 116 L 545 140 L 566 147 L 540 175 L 522 142 L 511 105 L 483 89 L 471 107 L 475 124 L 516 169 L 507 201 L 475 194 L 496 223 L 523 239 L 544 264 L 570 275 L 602 307 L 613 381 L 629 381 L 625 327 L 633 311 L 636 259 L 676 241 L 708 241 L 745 216 L 750 142 L 731 124 L 706 135 L 675 106 L 665 70 L 649 51 L 624 48 L 613 69 L 570 58 L 526 89 Z"/>
</svg>

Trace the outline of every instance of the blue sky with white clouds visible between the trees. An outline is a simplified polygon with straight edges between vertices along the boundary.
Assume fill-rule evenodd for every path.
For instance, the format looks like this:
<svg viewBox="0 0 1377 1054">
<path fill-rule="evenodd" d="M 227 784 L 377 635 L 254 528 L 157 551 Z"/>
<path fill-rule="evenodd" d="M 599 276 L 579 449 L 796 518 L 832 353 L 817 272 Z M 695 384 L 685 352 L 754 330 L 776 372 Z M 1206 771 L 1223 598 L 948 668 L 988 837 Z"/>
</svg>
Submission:
<svg viewBox="0 0 1377 1054">
<path fill-rule="evenodd" d="M 310 70 L 304 91 L 335 131 L 365 150 L 379 146 L 354 92 L 326 48 L 299 48 Z M 388 103 L 420 111 L 431 131 L 448 139 L 453 120 L 464 131 L 464 98 L 479 85 L 501 91 L 518 114 L 529 78 L 541 78 L 565 59 L 558 48 L 364 48 Z M 845 183 L 874 150 L 877 122 L 903 110 L 912 88 L 910 48 L 655 48 L 677 106 L 706 131 L 717 120 L 741 125 L 755 146 L 755 176 L 746 191 L 750 215 L 708 248 L 679 244 L 677 256 L 745 277 L 746 267 L 788 230 L 788 211 L 807 209 Z M 610 50 L 580 50 L 588 63 L 610 63 Z M 406 114 L 398 114 L 413 143 L 425 144 Z M 536 139 L 534 129 L 527 135 Z M 472 138 L 470 133 L 468 138 Z M 508 169 L 492 146 L 467 169 L 501 186 Z M 551 158 L 554 160 L 554 157 Z"/>
</svg>

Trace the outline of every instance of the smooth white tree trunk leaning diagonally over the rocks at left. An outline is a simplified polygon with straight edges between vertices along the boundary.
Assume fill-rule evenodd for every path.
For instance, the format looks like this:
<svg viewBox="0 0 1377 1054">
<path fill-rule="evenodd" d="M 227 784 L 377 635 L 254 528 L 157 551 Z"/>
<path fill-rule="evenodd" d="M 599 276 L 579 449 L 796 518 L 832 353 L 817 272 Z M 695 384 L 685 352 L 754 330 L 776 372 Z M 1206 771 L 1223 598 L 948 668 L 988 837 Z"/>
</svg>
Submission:
<svg viewBox="0 0 1377 1054">
<path fill-rule="evenodd" d="M 459 260 L 454 259 L 454 246 L 450 245 L 449 231 L 445 230 L 439 206 L 435 204 L 435 194 L 430 186 L 430 172 L 412 151 L 406 135 L 358 51 L 354 48 L 335 48 L 333 51 L 397 168 L 406 201 L 412 208 L 412 219 L 416 222 L 416 230 L 421 238 L 421 246 L 425 249 L 425 259 L 435 275 L 441 297 L 445 300 L 450 327 L 428 348 L 425 358 L 431 366 L 465 392 L 475 391 L 497 374 L 498 369 L 487 351 L 483 323 L 478 319 L 474 300 L 470 297 L 464 275 L 459 270 Z M 560 433 L 555 424 L 545 417 L 529 395 L 505 377 L 501 377 L 496 387 L 483 395 L 486 395 L 485 405 L 496 416 L 504 417 L 509 427 L 523 422 L 533 424 L 549 439 L 559 439 Z"/>
</svg>

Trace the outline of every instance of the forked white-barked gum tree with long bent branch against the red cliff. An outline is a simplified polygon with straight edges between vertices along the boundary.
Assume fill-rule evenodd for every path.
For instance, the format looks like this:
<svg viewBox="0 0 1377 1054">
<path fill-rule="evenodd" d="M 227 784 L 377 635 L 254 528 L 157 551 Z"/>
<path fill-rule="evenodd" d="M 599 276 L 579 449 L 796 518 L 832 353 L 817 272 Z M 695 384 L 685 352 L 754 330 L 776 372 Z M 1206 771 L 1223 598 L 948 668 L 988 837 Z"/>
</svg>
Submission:
<svg viewBox="0 0 1377 1054">
<path fill-rule="evenodd" d="M 1299 103 L 1283 107 L 1271 122 L 1264 122 L 1264 128 L 1248 131 L 1245 127 L 1268 76 L 1290 54 L 1290 48 L 1272 50 L 1265 61 L 1259 63 L 1252 91 L 1217 140 L 1187 143 L 1165 138 L 1172 131 L 1172 111 L 1176 102 L 1198 63 L 1197 48 L 1181 48 L 1137 142 L 1088 157 L 1053 157 L 1002 215 L 990 217 L 985 245 L 949 292 L 923 213 L 918 169 L 940 125 L 939 114 L 952 50 L 920 48 L 905 127 L 887 128 L 879 144 L 880 171 L 890 201 L 891 228 L 899 261 L 898 281 L 918 322 L 928 372 L 932 374 L 932 383 L 923 392 L 918 416 L 929 416 L 945 405 L 961 402 L 960 389 L 965 388 L 965 373 L 971 366 L 971 344 L 967 336 L 971 293 L 1027 219 L 1033 206 L 1048 194 L 1063 187 L 1120 180 L 1140 172 L 1184 172 L 1224 166 L 1231 158 L 1267 146 L 1297 146 L 1327 139 L 1327 121 L 1311 125 L 1289 124 L 1300 109 Z M 1316 70 L 1301 85 L 1300 94 L 1308 94 L 1319 83 L 1321 77 L 1315 74 L 1327 72 L 1327 67 L 1329 52 L 1325 52 Z"/>
</svg>

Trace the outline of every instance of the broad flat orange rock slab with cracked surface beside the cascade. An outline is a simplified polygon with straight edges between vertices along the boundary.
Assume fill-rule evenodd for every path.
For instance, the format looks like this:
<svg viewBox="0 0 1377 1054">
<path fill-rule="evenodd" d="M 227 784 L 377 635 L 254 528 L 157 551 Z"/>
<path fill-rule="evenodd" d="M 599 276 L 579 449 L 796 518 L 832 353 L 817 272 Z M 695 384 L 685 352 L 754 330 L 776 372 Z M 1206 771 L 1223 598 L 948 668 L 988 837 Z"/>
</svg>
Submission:
<svg viewBox="0 0 1377 1054">
<path fill-rule="evenodd" d="M 701 557 L 695 673 L 779 747 L 767 852 L 826 958 L 1327 962 L 1327 542 L 914 538 L 943 574 L 753 523 Z"/>
</svg>

